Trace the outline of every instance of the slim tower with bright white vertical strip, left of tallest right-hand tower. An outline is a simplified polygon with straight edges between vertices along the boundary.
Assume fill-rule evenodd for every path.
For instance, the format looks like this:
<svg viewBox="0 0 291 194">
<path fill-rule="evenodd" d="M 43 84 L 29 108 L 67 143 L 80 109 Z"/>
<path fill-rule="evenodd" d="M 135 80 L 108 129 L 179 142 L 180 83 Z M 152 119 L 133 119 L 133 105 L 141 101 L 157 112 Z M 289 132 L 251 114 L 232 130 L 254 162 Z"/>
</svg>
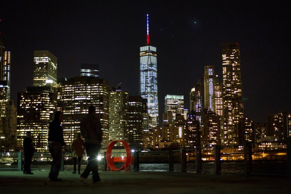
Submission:
<svg viewBox="0 0 291 194">
<path fill-rule="evenodd" d="M 214 66 L 207 65 L 204 67 L 204 108 L 214 111 Z"/>
</svg>

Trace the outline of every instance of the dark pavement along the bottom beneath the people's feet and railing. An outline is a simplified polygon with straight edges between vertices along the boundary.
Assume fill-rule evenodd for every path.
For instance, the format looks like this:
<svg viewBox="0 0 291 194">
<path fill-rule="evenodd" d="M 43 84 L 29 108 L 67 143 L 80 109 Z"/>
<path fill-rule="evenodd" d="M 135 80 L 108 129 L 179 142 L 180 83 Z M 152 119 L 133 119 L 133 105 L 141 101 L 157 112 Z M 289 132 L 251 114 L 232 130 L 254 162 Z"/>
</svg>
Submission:
<svg viewBox="0 0 291 194">
<path fill-rule="evenodd" d="M 60 182 L 49 171 L 0 171 L 0 193 L 290 193 L 290 177 L 243 177 L 191 172 L 100 171 L 103 182 L 80 181 L 80 175 L 61 171 Z"/>
</svg>

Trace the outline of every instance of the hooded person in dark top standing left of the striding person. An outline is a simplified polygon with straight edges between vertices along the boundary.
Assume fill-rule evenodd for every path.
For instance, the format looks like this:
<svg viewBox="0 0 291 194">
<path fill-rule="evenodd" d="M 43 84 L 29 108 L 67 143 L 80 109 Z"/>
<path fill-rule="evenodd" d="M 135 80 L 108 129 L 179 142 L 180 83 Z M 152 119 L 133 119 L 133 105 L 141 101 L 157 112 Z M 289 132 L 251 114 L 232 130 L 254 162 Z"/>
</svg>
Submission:
<svg viewBox="0 0 291 194">
<path fill-rule="evenodd" d="M 63 128 L 61 122 L 63 121 L 63 113 L 61 111 L 56 111 L 54 115 L 54 120 L 49 124 L 49 152 L 52 155 L 53 163 L 51 170 L 49 172 L 49 179 L 51 181 L 61 181 L 58 179 L 58 173 L 61 169 L 62 162 L 62 151 L 65 145 L 63 137 Z"/>
</svg>

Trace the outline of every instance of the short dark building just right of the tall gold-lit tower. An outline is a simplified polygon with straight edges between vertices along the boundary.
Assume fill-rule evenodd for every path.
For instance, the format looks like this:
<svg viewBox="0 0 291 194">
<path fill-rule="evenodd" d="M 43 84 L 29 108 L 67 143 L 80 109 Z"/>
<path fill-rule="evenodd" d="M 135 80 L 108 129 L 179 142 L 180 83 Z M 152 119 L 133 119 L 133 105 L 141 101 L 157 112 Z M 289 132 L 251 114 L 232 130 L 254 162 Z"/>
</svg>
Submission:
<svg viewBox="0 0 291 194">
<path fill-rule="evenodd" d="M 238 125 L 239 140 L 241 144 L 245 141 L 255 141 L 254 122 L 248 118 L 243 118 L 239 121 Z"/>
</svg>

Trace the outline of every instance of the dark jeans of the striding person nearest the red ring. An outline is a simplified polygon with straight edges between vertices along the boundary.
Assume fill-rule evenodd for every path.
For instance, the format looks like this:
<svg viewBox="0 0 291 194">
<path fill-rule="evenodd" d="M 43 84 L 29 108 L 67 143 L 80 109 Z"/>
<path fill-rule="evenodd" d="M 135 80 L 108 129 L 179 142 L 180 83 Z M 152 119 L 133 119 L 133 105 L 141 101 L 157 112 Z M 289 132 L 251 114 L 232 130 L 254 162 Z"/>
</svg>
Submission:
<svg viewBox="0 0 291 194">
<path fill-rule="evenodd" d="M 98 159 L 97 159 L 98 154 L 100 152 L 100 147 L 101 146 L 97 144 L 85 143 L 88 163 L 84 172 L 81 174 L 81 177 L 88 178 L 88 176 L 92 172 L 93 182 L 100 181 L 100 177 L 98 174 Z"/>
</svg>

